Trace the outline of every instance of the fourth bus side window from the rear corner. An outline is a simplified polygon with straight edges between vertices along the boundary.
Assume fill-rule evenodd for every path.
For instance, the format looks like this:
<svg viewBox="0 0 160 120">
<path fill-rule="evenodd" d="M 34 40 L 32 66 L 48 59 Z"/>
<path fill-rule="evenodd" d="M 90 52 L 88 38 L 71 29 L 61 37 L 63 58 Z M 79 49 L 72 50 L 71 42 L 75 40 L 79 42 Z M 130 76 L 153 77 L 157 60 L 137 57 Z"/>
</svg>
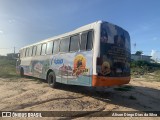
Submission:
<svg viewBox="0 0 160 120">
<path fill-rule="evenodd" d="M 68 52 L 69 51 L 69 43 L 70 38 L 63 38 L 60 43 L 60 52 Z"/>
</svg>

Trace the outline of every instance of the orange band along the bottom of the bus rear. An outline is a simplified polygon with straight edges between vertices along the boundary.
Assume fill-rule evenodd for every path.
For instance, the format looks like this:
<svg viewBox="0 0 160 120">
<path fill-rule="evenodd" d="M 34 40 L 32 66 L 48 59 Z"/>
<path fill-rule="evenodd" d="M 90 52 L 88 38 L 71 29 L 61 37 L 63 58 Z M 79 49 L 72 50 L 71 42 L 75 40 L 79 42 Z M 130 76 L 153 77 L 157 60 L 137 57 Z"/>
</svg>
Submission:
<svg viewBox="0 0 160 120">
<path fill-rule="evenodd" d="M 130 81 L 130 77 L 103 77 L 92 76 L 92 86 L 114 86 L 127 84 Z"/>
</svg>

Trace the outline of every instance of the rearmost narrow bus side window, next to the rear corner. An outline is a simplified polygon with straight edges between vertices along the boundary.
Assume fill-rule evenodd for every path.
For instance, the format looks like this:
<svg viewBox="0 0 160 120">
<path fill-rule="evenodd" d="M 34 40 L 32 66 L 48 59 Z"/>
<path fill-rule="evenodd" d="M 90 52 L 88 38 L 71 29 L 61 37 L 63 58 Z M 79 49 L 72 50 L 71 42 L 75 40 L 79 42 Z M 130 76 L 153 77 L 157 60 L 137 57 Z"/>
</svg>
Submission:
<svg viewBox="0 0 160 120">
<path fill-rule="evenodd" d="M 87 50 L 91 50 L 93 46 L 93 32 L 89 31 L 87 36 Z"/>
</svg>

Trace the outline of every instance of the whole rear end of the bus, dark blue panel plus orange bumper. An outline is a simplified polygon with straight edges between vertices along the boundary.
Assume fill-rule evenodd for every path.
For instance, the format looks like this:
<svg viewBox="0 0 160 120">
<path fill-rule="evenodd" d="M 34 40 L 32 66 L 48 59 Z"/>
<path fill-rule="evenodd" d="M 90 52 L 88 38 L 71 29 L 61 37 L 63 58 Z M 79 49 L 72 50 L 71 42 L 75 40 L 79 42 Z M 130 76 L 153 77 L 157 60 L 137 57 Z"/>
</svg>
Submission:
<svg viewBox="0 0 160 120">
<path fill-rule="evenodd" d="M 124 29 L 102 23 L 100 29 L 99 56 L 92 86 L 114 86 L 130 81 L 130 37 Z"/>
</svg>

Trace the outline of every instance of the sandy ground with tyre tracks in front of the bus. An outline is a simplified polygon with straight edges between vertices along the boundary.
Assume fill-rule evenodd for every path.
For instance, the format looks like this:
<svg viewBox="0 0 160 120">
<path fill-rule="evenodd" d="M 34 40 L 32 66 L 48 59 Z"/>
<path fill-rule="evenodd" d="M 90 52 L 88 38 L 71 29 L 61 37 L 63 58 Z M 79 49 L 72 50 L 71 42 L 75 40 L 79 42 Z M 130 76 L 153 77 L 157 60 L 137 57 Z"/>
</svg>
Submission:
<svg viewBox="0 0 160 120">
<path fill-rule="evenodd" d="M 132 89 L 120 91 L 115 90 L 117 87 L 110 87 L 97 92 L 88 87 L 67 85 L 59 85 L 58 88 L 53 89 L 48 87 L 45 81 L 34 78 L 0 78 L 0 111 L 160 111 L 160 82 L 132 78 L 131 82 L 125 86 L 132 86 Z M 115 117 L 89 117 L 88 114 L 73 119 L 108 118 L 115 119 Z M 38 118 L 38 120 L 41 119 L 43 118 Z M 66 118 L 45 118 L 45 120 L 52 119 Z M 116 119 L 138 120 L 139 118 L 118 117 Z M 141 119 L 158 120 L 160 118 L 141 117 Z"/>
</svg>

